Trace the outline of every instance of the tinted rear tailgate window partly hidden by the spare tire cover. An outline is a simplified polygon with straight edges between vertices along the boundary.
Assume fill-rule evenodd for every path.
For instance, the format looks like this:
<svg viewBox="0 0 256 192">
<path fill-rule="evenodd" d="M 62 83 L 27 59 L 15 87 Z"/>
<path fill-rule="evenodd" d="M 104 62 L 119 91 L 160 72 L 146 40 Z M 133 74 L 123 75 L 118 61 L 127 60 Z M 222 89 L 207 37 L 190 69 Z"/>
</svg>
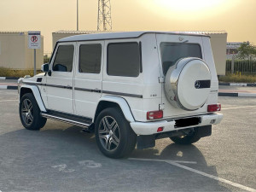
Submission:
<svg viewBox="0 0 256 192">
<path fill-rule="evenodd" d="M 173 66 L 181 58 L 201 58 L 201 47 L 199 44 L 161 43 L 160 53 L 162 59 L 163 73 L 166 75 L 169 67 Z"/>
</svg>

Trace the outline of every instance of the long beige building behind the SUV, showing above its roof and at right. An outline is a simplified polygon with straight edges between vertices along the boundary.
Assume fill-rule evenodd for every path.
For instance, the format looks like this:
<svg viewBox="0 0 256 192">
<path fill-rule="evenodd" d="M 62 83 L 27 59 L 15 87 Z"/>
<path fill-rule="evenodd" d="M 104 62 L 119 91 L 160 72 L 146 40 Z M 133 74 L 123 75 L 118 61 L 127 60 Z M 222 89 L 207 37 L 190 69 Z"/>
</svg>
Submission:
<svg viewBox="0 0 256 192">
<path fill-rule="evenodd" d="M 52 33 L 52 44 L 55 47 L 56 42 L 61 38 L 67 38 L 73 35 L 96 33 L 97 31 L 58 31 Z M 226 44 L 228 33 L 220 32 L 191 32 L 197 34 L 206 34 L 211 37 L 212 54 L 218 75 L 225 75 L 226 67 Z"/>
</svg>

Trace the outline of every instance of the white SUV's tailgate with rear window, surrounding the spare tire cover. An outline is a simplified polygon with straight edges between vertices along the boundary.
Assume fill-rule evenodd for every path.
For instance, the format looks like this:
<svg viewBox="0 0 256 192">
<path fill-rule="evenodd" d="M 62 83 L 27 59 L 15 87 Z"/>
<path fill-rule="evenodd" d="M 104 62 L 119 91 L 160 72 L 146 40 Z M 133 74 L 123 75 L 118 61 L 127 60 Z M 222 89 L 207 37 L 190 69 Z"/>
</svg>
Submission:
<svg viewBox="0 0 256 192">
<path fill-rule="evenodd" d="M 203 59 L 203 44 L 201 37 L 157 34 L 157 48 L 159 49 L 160 73 L 165 79 L 169 67 L 184 57 L 199 57 Z M 164 104 L 164 118 L 176 118 L 199 113 L 205 113 L 206 108 L 200 108 L 195 111 L 185 111 L 180 108 L 174 108 L 166 99 L 164 83 L 162 84 L 162 103 Z"/>
</svg>

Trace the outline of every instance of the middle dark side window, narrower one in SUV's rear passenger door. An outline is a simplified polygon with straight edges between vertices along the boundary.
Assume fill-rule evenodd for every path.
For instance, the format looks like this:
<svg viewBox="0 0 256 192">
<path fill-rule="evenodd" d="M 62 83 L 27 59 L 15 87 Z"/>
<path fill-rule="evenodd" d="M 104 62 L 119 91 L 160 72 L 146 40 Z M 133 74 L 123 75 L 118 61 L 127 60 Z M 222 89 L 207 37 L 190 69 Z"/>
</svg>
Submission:
<svg viewBox="0 0 256 192">
<path fill-rule="evenodd" d="M 79 50 L 79 72 L 101 73 L 102 44 L 82 44 Z"/>
</svg>

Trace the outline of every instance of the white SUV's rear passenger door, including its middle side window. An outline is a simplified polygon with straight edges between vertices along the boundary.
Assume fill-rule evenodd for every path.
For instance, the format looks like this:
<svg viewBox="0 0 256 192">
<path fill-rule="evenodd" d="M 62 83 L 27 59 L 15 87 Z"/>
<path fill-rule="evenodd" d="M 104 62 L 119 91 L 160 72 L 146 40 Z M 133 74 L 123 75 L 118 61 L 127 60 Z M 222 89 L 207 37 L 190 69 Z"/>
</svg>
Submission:
<svg viewBox="0 0 256 192">
<path fill-rule="evenodd" d="M 74 78 L 74 108 L 79 116 L 94 118 L 102 96 L 104 41 L 79 42 Z"/>
</svg>

